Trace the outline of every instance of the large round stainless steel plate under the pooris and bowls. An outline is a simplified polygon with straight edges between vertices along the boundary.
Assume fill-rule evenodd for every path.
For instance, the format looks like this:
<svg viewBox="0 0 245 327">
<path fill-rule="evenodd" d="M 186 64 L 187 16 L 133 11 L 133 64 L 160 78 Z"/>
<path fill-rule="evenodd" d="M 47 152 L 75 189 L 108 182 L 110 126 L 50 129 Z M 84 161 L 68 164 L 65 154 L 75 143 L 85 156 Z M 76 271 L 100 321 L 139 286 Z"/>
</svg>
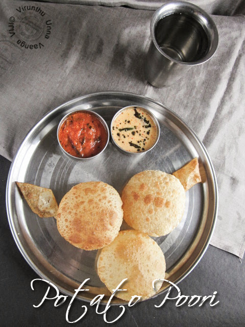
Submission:
<svg viewBox="0 0 245 327">
<path fill-rule="evenodd" d="M 93 160 L 80 162 L 61 152 L 56 130 L 62 117 L 77 109 L 94 110 L 108 125 L 117 110 L 138 105 L 153 112 L 161 135 L 156 147 L 142 156 L 129 157 L 108 144 Z M 78 249 L 66 242 L 54 218 L 39 218 L 22 199 L 15 181 L 29 182 L 53 190 L 59 201 L 72 186 L 83 181 L 101 180 L 121 193 L 125 183 L 143 170 L 172 173 L 193 157 L 199 157 L 204 183 L 186 193 L 186 210 L 180 225 L 169 235 L 154 238 L 166 259 L 165 278 L 178 283 L 197 265 L 204 254 L 217 214 L 217 185 L 209 156 L 198 137 L 173 111 L 151 99 L 123 92 L 103 92 L 71 100 L 48 112 L 28 133 L 18 149 L 9 172 L 7 212 L 15 242 L 29 265 L 67 295 L 86 279 L 89 292 L 77 298 L 90 301 L 97 294 L 109 294 L 97 276 L 97 251 Z M 122 228 L 127 228 L 122 224 Z M 163 284 L 159 293 L 168 288 Z M 108 296 L 105 297 L 106 302 Z M 113 303 L 122 303 L 113 299 Z"/>
</svg>

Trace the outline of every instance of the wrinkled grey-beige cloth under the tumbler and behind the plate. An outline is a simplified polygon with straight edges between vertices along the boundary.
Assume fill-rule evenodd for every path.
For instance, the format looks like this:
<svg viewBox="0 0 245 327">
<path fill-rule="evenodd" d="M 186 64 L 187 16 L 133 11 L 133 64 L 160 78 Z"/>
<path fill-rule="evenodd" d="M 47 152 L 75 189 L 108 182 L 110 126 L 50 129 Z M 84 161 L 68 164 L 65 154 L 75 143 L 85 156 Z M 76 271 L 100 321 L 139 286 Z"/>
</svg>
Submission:
<svg viewBox="0 0 245 327">
<path fill-rule="evenodd" d="M 219 188 L 211 244 L 242 258 L 245 18 L 213 16 L 219 32 L 214 57 L 157 89 L 143 76 L 152 15 L 124 7 L 2 1 L 0 153 L 11 160 L 41 116 L 72 98 L 118 90 L 157 100 L 182 116 L 206 146 Z"/>
</svg>

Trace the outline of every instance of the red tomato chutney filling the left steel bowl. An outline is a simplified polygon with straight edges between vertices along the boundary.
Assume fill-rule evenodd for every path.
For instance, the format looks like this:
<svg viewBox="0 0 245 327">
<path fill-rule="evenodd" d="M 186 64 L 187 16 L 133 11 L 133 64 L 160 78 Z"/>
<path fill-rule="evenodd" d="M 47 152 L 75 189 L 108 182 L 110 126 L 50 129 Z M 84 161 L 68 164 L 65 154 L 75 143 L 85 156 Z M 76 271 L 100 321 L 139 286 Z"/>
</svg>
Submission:
<svg viewBox="0 0 245 327">
<path fill-rule="evenodd" d="M 78 158 L 100 153 L 107 143 L 107 131 L 101 121 L 88 112 L 70 114 L 59 129 L 62 148 Z"/>
</svg>

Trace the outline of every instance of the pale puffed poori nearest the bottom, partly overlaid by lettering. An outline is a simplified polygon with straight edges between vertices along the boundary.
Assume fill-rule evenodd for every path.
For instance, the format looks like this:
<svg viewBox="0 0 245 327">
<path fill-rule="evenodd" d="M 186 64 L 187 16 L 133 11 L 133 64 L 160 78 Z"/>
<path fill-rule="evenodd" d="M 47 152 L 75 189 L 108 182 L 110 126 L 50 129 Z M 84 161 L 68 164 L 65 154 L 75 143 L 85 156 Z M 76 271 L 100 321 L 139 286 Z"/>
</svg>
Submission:
<svg viewBox="0 0 245 327">
<path fill-rule="evenodd" d="M 156 294 L 162 282 L 152 282 L 165 276 L 164 254 L 148 235 L 137 230 L 122 230 L 115 240 L 101 250 L 97 260 L 97 272 L 111 293 L 125 278 L 120 287 L 127 291 L 115 296 L 130 301 L 134 295 L 147 299 Z"/>
</svg>

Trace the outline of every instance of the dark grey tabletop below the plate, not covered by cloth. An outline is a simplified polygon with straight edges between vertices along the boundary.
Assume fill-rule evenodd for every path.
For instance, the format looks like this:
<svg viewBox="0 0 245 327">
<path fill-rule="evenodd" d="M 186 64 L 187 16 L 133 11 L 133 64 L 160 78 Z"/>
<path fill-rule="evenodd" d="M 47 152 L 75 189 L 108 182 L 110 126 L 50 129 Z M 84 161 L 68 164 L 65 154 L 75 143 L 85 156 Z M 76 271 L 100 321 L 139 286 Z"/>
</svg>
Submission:
<svg viewBox="0 0 245 327">
<path fill-rule="evenodd" d="M 46 300 L 40 308 L 38 305 L 47 290 L 44 283 L 31 281 L 39 276 L 22 258 L 12 238 L 5 206 L 5 188 L 10 161 L 0 157 L 0 258 L 1 258 L 1 298 L 0 321 L 2 326 L 68 326 L 65 314 L 69 299 L 61 306 L 54 307 L 54 300 Z M 162 307 L 159 305 L 165 295 L 145 302 L 136 303 L 128 308 L 124 315 L 111 325 L 116 326 L 245 326 L 245 266 L 237 256 L 209 246 L 198 266 L 182 281 L 178 287 L 184 295 L 212 295 L 217 291 L 215 301 L 219 303 L 210 307 L 208 301 L 202 306 L 176 307 L 176 301 L 169 300 Z M 54 296 L 54 294 L 53 294 Z M 215 302 L 214 301 L 214 302 Z M 84 318 L 72 325 L 106 326 L 103 315 L 95 313 L 95 307 L 89 303 L 75 300 L 72 303 L 69 318 L 78 319 L 83 313 L 82 306 L 88 308 Z M 104 307 L 100 308 L 100 312 Z M 120 313 L 118 307 L 111 307 L 107 314 L 109 321 Z M 110 325 L 110 324 L 109 324 Z"/>
</svg>

